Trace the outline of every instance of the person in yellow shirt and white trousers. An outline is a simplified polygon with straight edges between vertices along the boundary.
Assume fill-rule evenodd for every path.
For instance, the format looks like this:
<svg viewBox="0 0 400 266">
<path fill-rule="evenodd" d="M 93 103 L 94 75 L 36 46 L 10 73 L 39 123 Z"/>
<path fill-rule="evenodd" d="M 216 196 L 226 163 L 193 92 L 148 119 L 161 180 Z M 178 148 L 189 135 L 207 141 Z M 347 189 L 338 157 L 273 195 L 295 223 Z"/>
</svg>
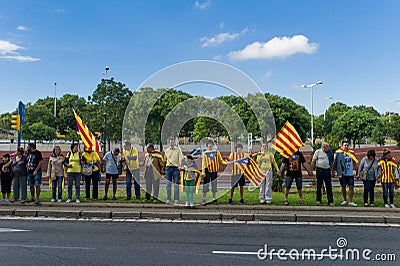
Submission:
<svg viewBox="0 0 400 266">
<path fill-rule="evenodd" d="M 276 164 L 274 155 L 268 151 L 268 146 L 263 143 L 261 151 L 257 154 L 256 162 L 260 167 L 260 170 L 266 175 L 266 177 L 260 183 L 260 203 L 271 204 L 272 202 L 272 166 L 276 172 L 279 172 L 279 167 Z"/>
</svg>

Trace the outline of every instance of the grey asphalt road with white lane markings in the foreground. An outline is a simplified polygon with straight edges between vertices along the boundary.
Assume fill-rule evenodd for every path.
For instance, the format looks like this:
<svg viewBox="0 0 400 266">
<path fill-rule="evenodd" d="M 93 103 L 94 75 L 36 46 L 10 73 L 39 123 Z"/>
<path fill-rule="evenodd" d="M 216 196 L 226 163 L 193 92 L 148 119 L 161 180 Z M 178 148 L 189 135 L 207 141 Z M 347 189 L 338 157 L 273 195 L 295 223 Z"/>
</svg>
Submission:
<svg viewBox="0 0 400 266">
<path fill-rule="evenodd" d="M 338 238 L 345 239 L 339 242 Z M 400 260 L 399 241 L 399 227 L 0 220 L 0 264 L 381 265 L 362 258 L 368 248 L 367 257 L 383 254 L 392 261 L 382 265 L 398 265 L 390 254 Z M 293 258 L 294 250 L 300 254 L 304 249 L 317 254 L 329 247 L 337 251 L 331 257 L 325 251 L 326 256 L 316 261 L 307 253 L 305 260 L 286 255 L 288 261 L 282 261 L 277 254 L 272 260 L 268 256 L 260 260 L 257 252 L 264 245 L 268 245 L 268 256 L 279 249 L 292 252 Z M 360 260 L 353 260 L 350 253 L 347 260 L 332 259 L 349 249 L 359 250 Z"/>
</svg>

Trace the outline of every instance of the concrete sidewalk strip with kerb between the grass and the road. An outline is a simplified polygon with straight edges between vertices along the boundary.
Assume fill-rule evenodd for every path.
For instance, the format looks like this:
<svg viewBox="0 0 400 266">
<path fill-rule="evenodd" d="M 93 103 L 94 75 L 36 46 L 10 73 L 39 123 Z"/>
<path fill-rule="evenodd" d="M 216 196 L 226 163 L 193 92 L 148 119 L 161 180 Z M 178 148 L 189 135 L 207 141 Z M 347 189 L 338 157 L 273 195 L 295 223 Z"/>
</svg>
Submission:
<svg viewBox="0 0 400 266">
<path fill-rule="evenodd" d="M 167 204 L 43 202 L 40 206 L 3 203 L 1 217 L 400 224 L 400 209 L 265 205 L 207 205 L 188 209 Z"/>
</svg>

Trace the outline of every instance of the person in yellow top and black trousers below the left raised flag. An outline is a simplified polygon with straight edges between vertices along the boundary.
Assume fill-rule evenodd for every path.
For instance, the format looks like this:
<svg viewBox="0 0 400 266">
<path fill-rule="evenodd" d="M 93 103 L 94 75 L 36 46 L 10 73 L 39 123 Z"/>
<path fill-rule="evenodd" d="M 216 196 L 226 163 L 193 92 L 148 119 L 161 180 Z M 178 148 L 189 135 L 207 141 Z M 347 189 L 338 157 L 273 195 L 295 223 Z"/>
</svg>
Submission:
<svg viewBox="0 0 400 266">
<path fill-rule="evenodd" d="M 99 198 L 99 175 L 101 169 L 101 159 L 96 151 L 92 151 L 91 148 L 85 148 L 82 153 L 82 164 L 91 165 L 93 168 L 92 174 L 85 177 L 85 188 L 86 188 L 86 200 L 90 199 L 90 183 L 93 181 L 93 200 Z"/>
</svg>

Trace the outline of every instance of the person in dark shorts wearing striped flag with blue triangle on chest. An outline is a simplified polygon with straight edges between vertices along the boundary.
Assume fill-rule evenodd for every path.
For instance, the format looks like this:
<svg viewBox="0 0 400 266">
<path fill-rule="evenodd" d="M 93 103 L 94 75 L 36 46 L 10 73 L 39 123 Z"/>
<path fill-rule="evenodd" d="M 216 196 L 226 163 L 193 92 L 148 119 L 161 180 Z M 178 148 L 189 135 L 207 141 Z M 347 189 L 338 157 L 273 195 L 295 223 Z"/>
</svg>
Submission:
<svg viewBox="0 0 400 266">
<path fill-rule="evenodd" d="M 221 165 L 227 165 L 228 163 L 222 159 L 221 153 L 218 150 L 214 149 L 214 141 L 208 139 L 207 142 L 207 150 L 204 151 L 202 155 L 202 171 L 201 175 L 204 178 L 203 180 L 203 205 L 207 204 L 207 192 L 210 187 L 211 182 L 211 190 L 213 203 L 217 203 L 217 177 L 218 171 Z"/>
</svg>

